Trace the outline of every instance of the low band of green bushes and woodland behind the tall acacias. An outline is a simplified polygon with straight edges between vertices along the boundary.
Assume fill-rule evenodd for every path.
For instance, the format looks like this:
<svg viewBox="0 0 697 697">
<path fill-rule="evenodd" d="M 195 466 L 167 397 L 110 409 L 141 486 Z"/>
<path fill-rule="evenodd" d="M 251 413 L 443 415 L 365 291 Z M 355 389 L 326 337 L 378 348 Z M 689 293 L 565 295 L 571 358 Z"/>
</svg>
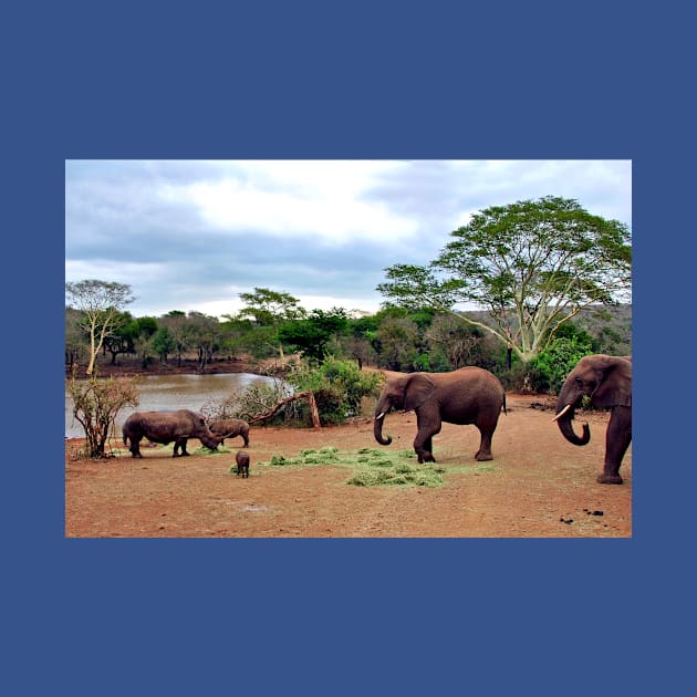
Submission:
<svg viewBox="0 0 697 697">
<path fill-rule="evenodd" d="M 466 313 L 480 322 L 485 312 Z M 84 361 L 89 334 L 82 313 L 66 308 L 65 362 Z M 581 312 L 559 332 L 556 353 L 564 364 L 576 354 L 632 351 L 632 305 L 596 308 Z M 498 374 L 510 388 L 544 392 L 554 388 L 552 378 L 534 377 L 535 365 L 516 365 L 499 340 L 451 313 L 387 306 L 376 314 L 350 316 L 342 309 L 315 310 L 297 319 L 273 313 L 228 316 L 223 320 L 198 312 L 169 312 L 160 318 L 135 318 L 122 312 L 104 342 L 103 356 L 116 363 L 121 354 L 137 356 L 146 368 L 155 361 L 181 362 L 191 355 L 204 371 L 214 357 L 251 356 L 264 360 L 285 353 L 302 353 L 322 363 L 325 356 L 352 358 L 361 365 L 391 371 L 451 371 L 479 365 Z M 555 358 L 559 362 L 559 358 Z M 550 363 L 549 356 L 547 363 Z M 547 368 L 544 368 L 547 370 Z M 556 372 L 562 371 L 558 367 Z M 531 373 L 533 376 L 531 377 Z"/>
</svg>

